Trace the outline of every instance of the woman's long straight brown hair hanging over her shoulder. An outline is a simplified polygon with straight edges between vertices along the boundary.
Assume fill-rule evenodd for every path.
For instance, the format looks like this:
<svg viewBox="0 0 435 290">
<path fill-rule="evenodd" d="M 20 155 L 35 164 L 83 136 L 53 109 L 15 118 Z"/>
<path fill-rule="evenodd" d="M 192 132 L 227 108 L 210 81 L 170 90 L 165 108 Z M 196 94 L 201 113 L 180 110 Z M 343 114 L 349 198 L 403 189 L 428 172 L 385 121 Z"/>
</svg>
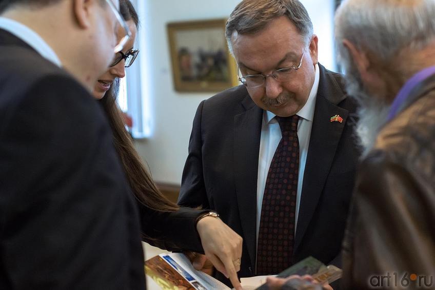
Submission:
<svg viewBox="0 0 435 290">
<path fill-rule="evenodd" d="M 120 11 L 125 20 L 133 20 L 136 28 L 139 29 L 139 17 L 129 0 L 120 1 Z M 148 208 L 162 212 L 176 211 L 180 207 L 159 191 L 134 148 L 133 140 L 125 128 L 121 109 L 116 103 L 119 88 L 120 79 L 117 78 L 99 101 L 109 120 L 113 143 L 120 156 L 130 188 L 136 199 Z"/>
</svg>

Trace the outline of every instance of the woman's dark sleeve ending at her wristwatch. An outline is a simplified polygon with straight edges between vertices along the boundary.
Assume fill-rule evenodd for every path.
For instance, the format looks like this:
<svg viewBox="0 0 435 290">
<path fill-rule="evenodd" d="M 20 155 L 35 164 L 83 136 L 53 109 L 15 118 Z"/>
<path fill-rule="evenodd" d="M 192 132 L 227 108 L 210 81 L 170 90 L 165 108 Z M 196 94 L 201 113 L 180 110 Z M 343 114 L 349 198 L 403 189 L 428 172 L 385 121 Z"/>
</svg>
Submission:
<svg viewBox="0 0 435 290">
<path fill-rule="evenodd" d="M 157 212 L 140 206 L 143 240 L 168 251 L 193 251 L 204 254 L 196 231 L 196 219 L 208 211 L 181 208 L 175 212 Z"/>
</svg>

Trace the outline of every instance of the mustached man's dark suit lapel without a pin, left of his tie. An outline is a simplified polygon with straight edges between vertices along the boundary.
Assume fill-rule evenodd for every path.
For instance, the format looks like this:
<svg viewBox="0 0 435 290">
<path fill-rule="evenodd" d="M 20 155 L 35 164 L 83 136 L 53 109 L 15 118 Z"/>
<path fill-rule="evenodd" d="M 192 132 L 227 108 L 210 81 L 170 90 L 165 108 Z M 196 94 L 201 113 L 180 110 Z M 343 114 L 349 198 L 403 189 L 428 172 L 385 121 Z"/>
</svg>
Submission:
<svg viewBox="0 0 435 290">
<path fill-rule="evenodd" d="M 234 180 L 243 239 L 252 269 L 256 256 L 256 191 L 263 110 L 247 95 L 245 112 L 234 116 Z"/>
</svg>

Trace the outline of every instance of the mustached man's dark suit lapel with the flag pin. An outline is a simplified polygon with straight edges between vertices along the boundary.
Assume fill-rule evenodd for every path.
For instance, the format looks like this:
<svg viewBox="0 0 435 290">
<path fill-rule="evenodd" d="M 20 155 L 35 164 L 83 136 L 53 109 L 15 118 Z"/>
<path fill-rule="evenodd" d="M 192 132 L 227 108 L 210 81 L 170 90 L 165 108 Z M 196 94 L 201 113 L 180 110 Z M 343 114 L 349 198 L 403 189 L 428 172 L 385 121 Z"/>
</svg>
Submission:
<svg viewBox="0 0 435 290">
<path fill-rule="evenodd" d="M 296 225 L 295 251 L 302 241 L 319 202 L 348 117 L 348 111 L 337 106 L 346 97 L 337 80 L 324 67 L 319 65 L 319 68 L 319 90 L 315 101 L 298 224 Z M 340 115 L 343 121 L 331 122 L 331 117 L 335 115 Z"/>
</svg>

